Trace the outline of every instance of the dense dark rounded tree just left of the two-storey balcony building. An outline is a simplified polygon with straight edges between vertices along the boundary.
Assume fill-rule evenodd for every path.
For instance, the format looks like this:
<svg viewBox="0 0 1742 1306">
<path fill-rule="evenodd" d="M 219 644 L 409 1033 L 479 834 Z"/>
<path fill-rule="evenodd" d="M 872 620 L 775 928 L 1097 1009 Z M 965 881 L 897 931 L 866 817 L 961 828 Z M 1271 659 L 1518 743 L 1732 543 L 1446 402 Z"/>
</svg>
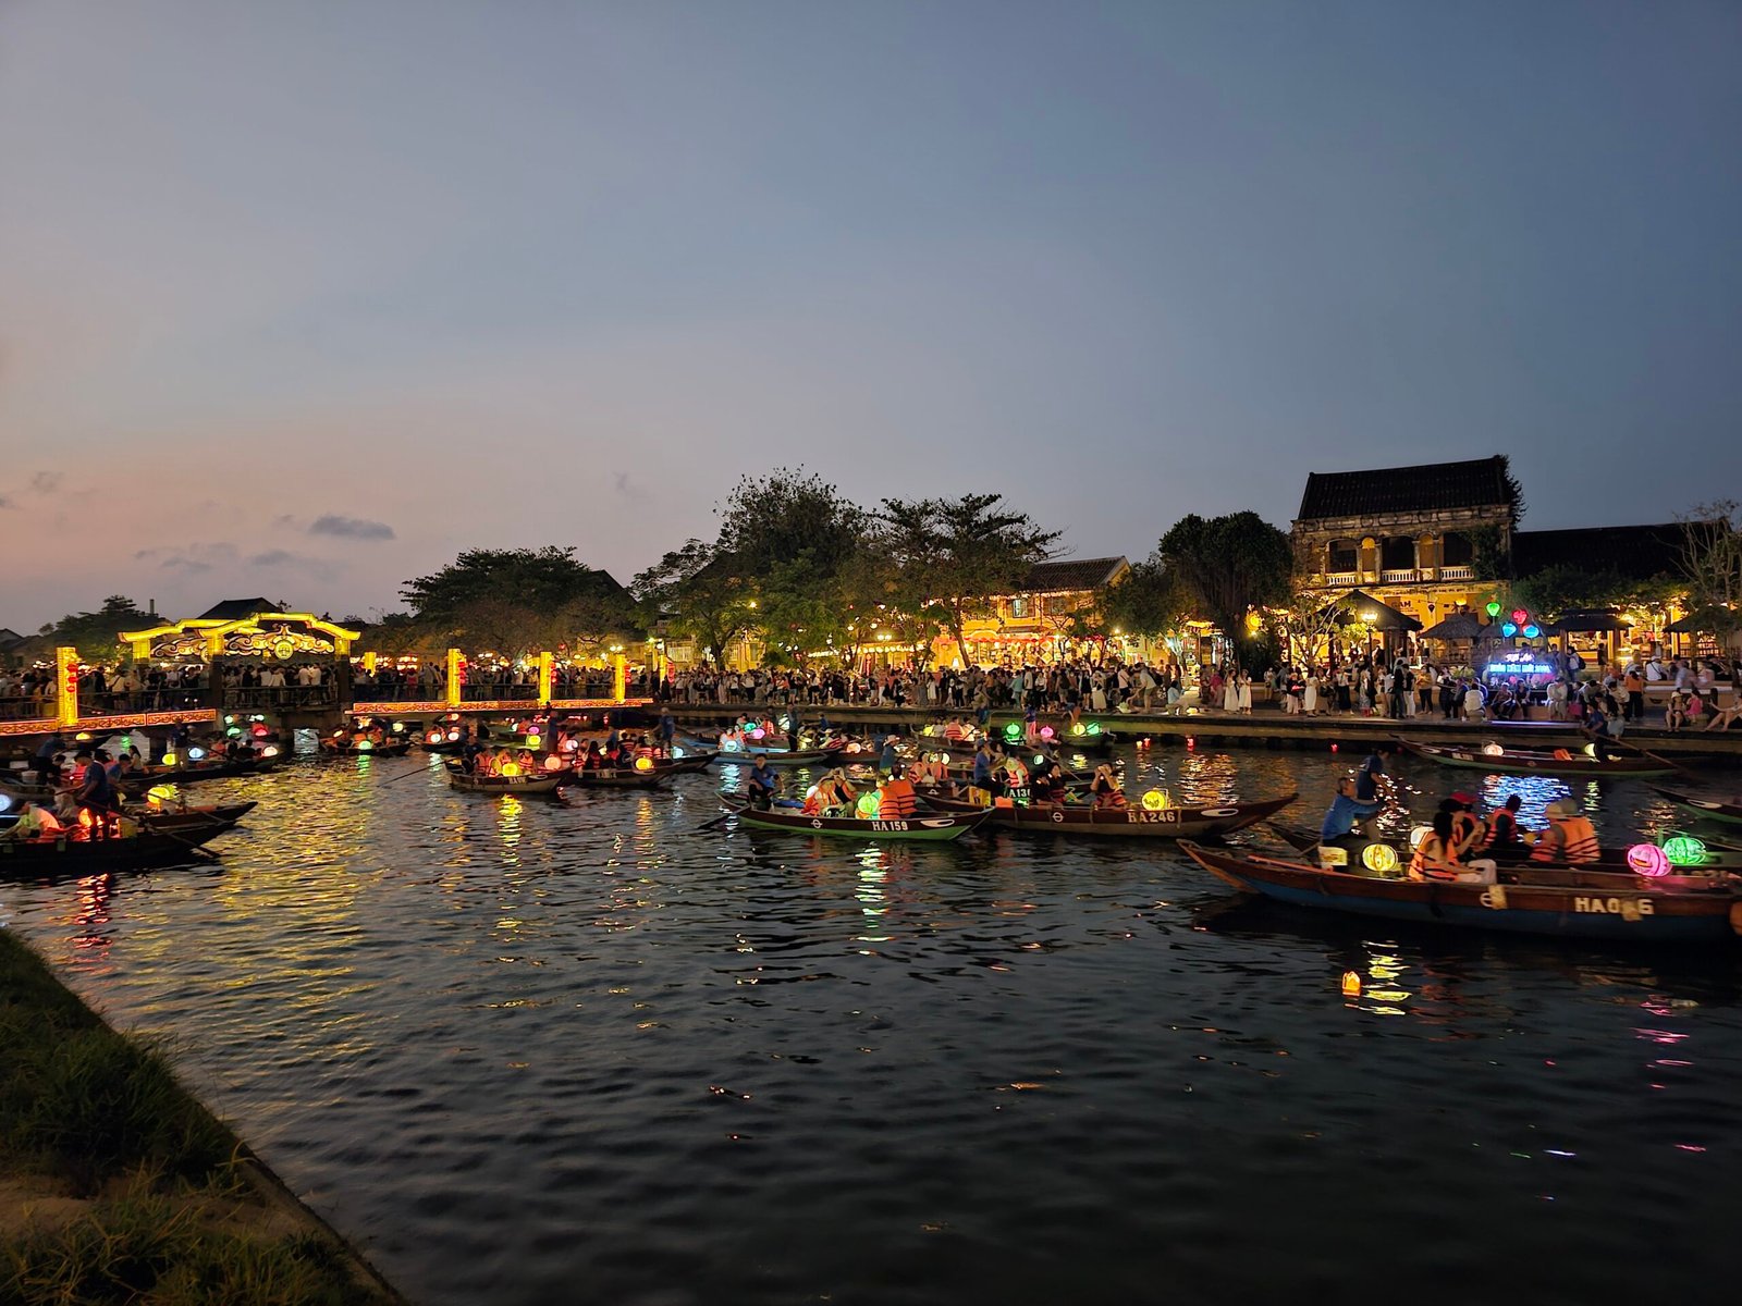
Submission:
<svg viewBox="0 0 1742 1306">
<path fill-rule="evenodd" d="M 1193 606 L 1221 627 L 1235 656 L 1249 670 L 1259 648 L 1246 627 L 1246 615 L 1277 606 L 1289 597 L 1294 549 L 1256 512 L 1225 517 L 1181 517 L 1155 547 L 1157 557 L 1179 578 Z"/>
</svg>

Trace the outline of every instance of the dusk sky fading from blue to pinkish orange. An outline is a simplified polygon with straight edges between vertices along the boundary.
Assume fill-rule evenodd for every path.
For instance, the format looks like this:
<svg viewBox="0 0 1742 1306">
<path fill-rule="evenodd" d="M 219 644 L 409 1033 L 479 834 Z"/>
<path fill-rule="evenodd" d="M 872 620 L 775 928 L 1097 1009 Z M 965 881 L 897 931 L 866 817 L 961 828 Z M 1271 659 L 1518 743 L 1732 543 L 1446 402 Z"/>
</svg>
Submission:
<svg viewBox="0 0 1742 1306">
<path fill-rule="evenodd" d="M 0 625 L 629 580 L 742 472 L 1078 555 L 1742 491 L 1742 5 L 0 7 Z"/>
</svg>

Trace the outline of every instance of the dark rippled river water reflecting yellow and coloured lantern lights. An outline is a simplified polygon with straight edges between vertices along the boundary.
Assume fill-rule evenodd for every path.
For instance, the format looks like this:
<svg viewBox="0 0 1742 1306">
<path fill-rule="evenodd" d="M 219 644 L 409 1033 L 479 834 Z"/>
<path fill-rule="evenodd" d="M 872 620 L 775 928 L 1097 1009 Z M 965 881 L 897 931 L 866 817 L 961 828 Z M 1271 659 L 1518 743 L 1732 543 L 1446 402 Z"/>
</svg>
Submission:
<svg viewBox="0 0 1742 1306">
<path fill-rule="evenodd" d="M 1317 820 L 1354 759 L 1125 761 Z M 261 799 L 221 865 L 0 911 L 416 1303 L 1733 1299 L 1742 949 L 1399 933 L 1171 845 L 699 832 L 721 778 L 308 763 L 197 791 Z"/>
</svg>

